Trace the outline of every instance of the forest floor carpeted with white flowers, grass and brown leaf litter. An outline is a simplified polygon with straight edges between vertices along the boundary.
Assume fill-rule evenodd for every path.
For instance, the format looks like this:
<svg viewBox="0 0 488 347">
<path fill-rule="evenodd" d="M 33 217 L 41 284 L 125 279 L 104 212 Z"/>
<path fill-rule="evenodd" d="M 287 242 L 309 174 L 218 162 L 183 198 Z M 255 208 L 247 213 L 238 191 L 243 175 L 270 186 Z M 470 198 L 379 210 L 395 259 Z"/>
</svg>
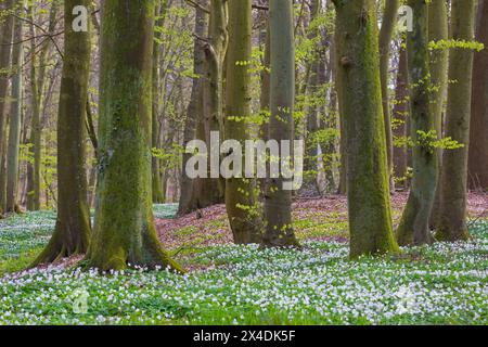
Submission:
<svg viewBox="0 0 488 347">
<path fill-rule="evenodd" d="M 398 221 L 406 194 L 393 197 Z M 158 235 L 189 273 L 134 269 L 99 275 L 70 266 L 21 271 L 48 242 L 54 211 L 0 220 L 0 324 L 487 324 L 488 195 L 471 194 L 472 240 L 348 260 L 345 197 L 301 200 L 303 250 L 231 243 L 224 206 L 171 219 Z M 74 303 L 86 296 L 88 311 Z"/>
</svg>

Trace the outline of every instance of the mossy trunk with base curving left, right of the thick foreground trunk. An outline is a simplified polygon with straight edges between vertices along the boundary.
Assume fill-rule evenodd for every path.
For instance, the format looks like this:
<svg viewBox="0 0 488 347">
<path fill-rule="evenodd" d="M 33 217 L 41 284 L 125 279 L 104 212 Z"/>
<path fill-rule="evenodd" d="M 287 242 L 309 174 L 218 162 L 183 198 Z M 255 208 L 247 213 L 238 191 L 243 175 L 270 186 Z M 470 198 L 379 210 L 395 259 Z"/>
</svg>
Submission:
<svg viewBox="0 0 488 347">
<path fill-rule="evenodd" d="M 413 178 L 397 237 L 400 245 L 421 245 L 433 241 L 429 218 L 437 185 L 437 152 L 423 144 L 422 134 L 435 130 L 432 112 L 431 69 L 428 52 L 428 4 L 410 0 L 413 9 L 413 31 L 407 34 L 407 56 L 410 86 Z"/>
</svg>

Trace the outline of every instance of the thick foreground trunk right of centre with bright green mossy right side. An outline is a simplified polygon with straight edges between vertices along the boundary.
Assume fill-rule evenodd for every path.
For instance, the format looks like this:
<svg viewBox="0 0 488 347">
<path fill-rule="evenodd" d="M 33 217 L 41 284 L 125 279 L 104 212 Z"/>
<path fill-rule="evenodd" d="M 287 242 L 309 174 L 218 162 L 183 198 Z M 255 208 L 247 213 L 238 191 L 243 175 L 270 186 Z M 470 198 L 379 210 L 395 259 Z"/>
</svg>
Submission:
<svg viewBox="0 0 488 347">
<path fill-rule="evenodd" d="M 346 132 L 351 258 L 397 252 L 393 234 L 374 0 L 334 0 Z"/>
</svg>

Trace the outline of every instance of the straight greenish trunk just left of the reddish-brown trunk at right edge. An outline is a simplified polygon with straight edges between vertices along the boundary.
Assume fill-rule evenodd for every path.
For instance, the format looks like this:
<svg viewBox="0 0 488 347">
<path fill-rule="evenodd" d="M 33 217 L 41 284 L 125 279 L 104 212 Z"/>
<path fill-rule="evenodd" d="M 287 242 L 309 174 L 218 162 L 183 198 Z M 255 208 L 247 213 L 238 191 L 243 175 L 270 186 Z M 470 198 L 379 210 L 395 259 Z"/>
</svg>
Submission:
<svg viewBox="0 0 488 347">
<path fill-rule="evenodd" d="M 452 0 L 451 34 L 454 40 L 473 41 L 475 34 L 475 0 Z M 474 53 L 454 48 L 449 57 L 449 80 L 446 112 L 446 136 L 464 144 L 448 150 L 442 156 L 440 211 L 436 237 L 442 241 L 467 240 L 467 151 Z"/>
</svg>

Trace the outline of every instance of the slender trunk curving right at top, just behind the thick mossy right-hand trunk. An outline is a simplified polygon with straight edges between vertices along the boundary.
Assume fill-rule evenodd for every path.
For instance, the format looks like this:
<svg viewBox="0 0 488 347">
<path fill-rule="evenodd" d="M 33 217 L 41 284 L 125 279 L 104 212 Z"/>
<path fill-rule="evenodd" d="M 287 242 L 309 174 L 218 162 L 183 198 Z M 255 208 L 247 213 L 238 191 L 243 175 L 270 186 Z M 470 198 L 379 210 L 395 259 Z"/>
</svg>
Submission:
<svg viewBox="0 0 488 347">
<path fill-rule="evenodd" d="M 388 69 L 391 37 L 399 5 L 400 0 L 385 1 L 385 12 L 383 14 L 382 28 L 380 30 L 380 77 L 382 81 L 383 117 L 385 118 L 386 153 L 388 157 L 388 174 L 391 191 L 395 190 L 395 180 L 393 175 L 393 133 L 389 110 Z"/>
</svg>

